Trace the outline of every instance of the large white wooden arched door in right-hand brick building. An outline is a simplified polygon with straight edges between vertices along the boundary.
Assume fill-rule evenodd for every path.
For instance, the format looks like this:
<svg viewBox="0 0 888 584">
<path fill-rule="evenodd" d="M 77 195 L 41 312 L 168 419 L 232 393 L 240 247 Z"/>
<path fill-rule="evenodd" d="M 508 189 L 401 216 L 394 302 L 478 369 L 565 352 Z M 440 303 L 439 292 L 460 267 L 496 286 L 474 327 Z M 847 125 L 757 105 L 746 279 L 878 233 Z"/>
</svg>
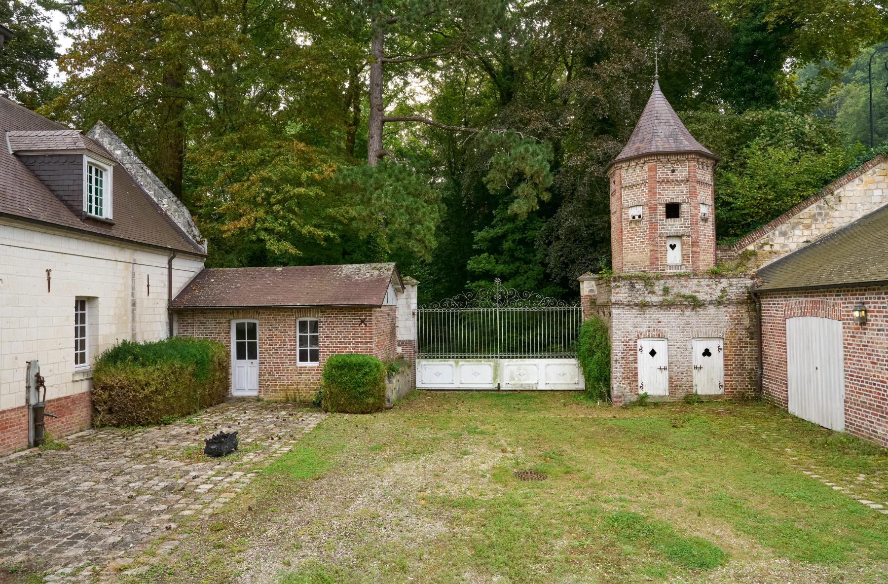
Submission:
<svg viewBox="0 0 888 584">
<path fill-rule="evenodd" d="M 844 430 L 841 321 L 787 319 L 786 370 L 789 413 L 830 430 Z"/>
</svg>

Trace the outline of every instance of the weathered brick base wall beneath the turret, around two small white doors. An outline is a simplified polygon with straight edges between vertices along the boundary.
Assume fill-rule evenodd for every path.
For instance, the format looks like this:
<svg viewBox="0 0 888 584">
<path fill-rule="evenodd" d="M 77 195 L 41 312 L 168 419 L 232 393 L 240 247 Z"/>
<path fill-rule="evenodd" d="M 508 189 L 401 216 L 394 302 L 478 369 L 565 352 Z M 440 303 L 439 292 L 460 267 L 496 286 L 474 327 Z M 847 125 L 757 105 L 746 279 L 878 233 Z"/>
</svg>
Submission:
<svg viewBox="0 0 888 584">
<path fill-rule="evenodd" d="M 669 342 L 669 399 L 694 391 L 691 343 L 724 339 L 725 397 L 748 396 L 757 385 L 755 306 L 749 276 L 644 274 L 601 280 L 596 304 L 610 321 L 611 397 L 615 405 L 638 398 L 639 338 Z"/>
</svg>

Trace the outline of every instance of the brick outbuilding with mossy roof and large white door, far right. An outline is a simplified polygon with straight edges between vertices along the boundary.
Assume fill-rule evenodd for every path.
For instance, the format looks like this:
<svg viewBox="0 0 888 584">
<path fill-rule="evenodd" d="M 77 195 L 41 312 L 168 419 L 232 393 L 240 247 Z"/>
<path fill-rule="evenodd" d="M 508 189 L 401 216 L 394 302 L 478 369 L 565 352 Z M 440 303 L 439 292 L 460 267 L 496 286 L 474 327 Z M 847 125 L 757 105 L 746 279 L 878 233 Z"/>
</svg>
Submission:
<svg viewBox="0 0 888 584">
<path fill-rule="evenodd" d="M 888 207 L 757 276 L 765 398 L 888 446 Z"/>
</svg>

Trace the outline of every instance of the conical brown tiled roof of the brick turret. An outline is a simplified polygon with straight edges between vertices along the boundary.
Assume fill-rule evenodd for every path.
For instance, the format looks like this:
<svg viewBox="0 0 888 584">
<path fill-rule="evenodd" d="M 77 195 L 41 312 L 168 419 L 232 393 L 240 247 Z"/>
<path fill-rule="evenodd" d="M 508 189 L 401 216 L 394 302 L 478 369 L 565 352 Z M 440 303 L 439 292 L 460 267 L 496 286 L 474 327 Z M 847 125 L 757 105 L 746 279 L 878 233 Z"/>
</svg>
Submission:
<svg viewBox="0 0 888 584">
<path fill-rule="evenodd" d="M 687 131 L 685 124 L 678 119 L 675 110 L 660 91 L 660 82 L 656 77 L 654 77 L 654 91 L 651 91 L 651 97 L 647 99 L 645 111 L 638 118 L 629 142 L 622 147 L 620 154 L 607 167 L 610 168 L 616 162 L 653 153 L 697 153 L 719 160 L 718 156 L 697 142 L 691 136 L 691 132 Z"/>
</svg>

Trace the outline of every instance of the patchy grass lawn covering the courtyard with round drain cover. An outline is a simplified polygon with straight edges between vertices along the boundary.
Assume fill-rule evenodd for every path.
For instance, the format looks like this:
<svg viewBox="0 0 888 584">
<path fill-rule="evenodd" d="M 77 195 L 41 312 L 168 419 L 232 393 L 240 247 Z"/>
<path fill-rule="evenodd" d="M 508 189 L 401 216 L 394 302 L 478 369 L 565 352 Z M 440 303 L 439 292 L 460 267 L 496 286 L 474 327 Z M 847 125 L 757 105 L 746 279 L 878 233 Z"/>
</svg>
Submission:
<svg viewBox="0 0 888 584">
<path fill-rule="evenodd" d="M 888 451 L 759 404 L 414 392 L 330 415 L 129 581 L 888 581 L 888 515 L 833 484 L 888 502 Z"/>
</svg>

